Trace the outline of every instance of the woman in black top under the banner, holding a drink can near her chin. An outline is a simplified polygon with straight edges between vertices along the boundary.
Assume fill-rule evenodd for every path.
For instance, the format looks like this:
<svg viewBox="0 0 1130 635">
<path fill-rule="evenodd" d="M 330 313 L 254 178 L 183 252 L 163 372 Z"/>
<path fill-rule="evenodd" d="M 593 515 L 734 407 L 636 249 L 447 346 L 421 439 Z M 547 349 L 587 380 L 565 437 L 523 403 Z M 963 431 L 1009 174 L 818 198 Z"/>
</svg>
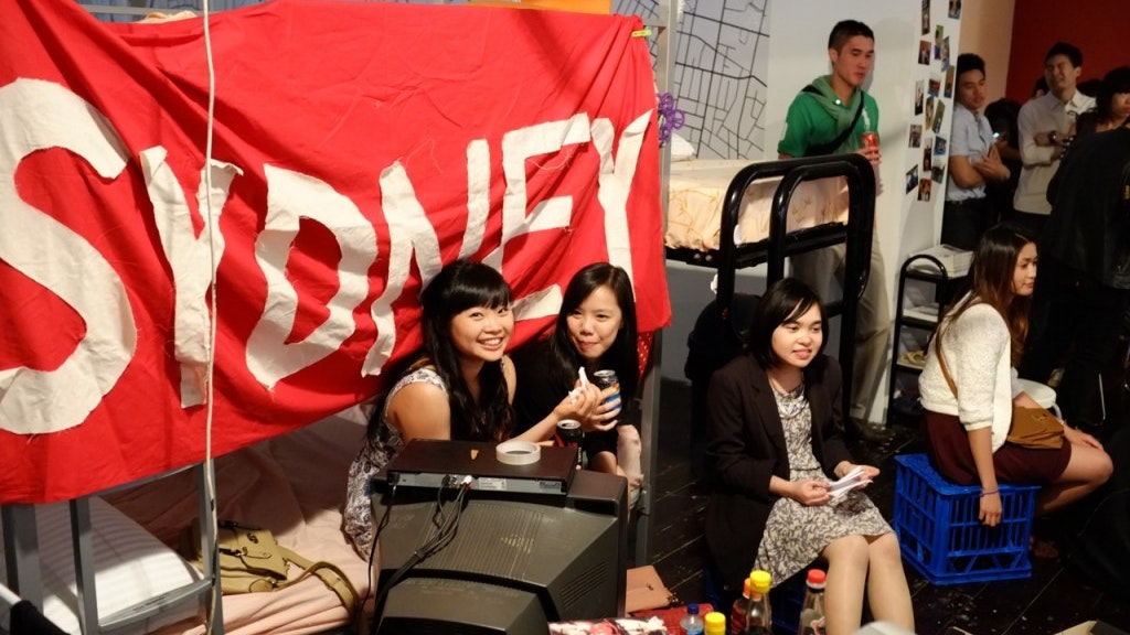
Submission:
<svg viewBox="0 0 1130 635">
<path fill-rule="evenodd" d="M 602 371 L 610 371 L 618 389 L 601 390 L 603 403 L 582 421 L 582 447 L 590 469 L 628 477 L 635 486 L 642 482 L 642 475 L 625 473 L 617 463 L 620 437 L 636 433 L 638 442 L 634 426 L 625 425 L 629 423 L 628 406 L 636 395 L 640 371 L 635 295 L 624 269 L 598 262 L 577 271 L 565 289 L 553 333 L 515 351 L 513 359 L 519 430 L 545 418 L 577 384 L 580 369 L 597 385 L 607 379 Z M 618 430 L 617 424 L 631 430 Z M 623 462 L 624 458 L 619 459 Z"/>
</svg>

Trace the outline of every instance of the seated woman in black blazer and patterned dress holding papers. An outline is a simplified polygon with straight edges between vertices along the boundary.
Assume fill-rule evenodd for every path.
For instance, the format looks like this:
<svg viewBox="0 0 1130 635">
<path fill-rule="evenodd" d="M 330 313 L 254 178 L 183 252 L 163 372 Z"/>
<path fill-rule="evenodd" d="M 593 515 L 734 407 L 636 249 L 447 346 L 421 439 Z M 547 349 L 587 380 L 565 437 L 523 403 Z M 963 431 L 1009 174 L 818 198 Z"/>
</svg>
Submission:
<svg viewBox="0 0 1130 635">
<path fill-rule="evenodd" d="M 898 541 L 860 492 L 879 470 L 847 452 L 840 365 L 823 347 L 819 297 L 800 280 L 771 285 L 745 354 L 710 383 L 706 543 L 731 593 L 751 568 L 780 583 L 823 558 L 827 633 L 860 627 L 864 590 L 876 619 L 913 632 Z M 860 480 L 833 496 L 829 481 L 857 469 Z"/>
</svg>

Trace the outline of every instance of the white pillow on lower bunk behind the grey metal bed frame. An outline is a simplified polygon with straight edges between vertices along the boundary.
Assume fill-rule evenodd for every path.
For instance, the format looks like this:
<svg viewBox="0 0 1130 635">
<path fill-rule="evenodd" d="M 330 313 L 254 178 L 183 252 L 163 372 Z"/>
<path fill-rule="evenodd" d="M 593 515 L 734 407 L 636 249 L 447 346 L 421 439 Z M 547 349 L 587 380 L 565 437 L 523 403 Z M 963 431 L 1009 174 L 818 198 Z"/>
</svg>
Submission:
<svg viewBox="0 0 1130 635">
<path fill-rule="evenodd" d="M 36 505 L 35 516 L 43 615 L 63 630 L 77 635 L 81 630 L 68 504 Z M 176 551 L 97 496 L 90 497 L 90 527 L 99 616 L 112 615 L 201 577 Z M 0 582 L 5 584 L 6 575 L 3 554 L 0 554 Z M 195 616 L 198 607 L 198 602 L 185 602 L 115 630 L 115 634 L 148 633 Z"/>
</svg>

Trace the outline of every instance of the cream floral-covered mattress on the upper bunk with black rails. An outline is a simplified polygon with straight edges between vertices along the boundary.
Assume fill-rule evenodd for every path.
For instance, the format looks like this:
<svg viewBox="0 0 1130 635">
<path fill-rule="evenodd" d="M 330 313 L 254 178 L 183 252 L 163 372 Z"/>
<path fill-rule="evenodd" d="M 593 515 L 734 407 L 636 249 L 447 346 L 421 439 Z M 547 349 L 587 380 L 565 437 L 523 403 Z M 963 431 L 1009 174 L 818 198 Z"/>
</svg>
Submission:
<svg viewBox="0 0 1130 635">
<path fill-rule="evenodd" d="M 725 191 L 738 172 L 754 162 L 695 159 L 671 164 L 667 212 L 668 247 L 719 249 Z M 738 216 L 736 244 L 768 238 L 773 194 L 781 179 L 757 181 L 746 190 Z M 843 177 L 801 182 L 789 206 L 786 230 L 847 223 L 847 183 Z"/>
</svg>

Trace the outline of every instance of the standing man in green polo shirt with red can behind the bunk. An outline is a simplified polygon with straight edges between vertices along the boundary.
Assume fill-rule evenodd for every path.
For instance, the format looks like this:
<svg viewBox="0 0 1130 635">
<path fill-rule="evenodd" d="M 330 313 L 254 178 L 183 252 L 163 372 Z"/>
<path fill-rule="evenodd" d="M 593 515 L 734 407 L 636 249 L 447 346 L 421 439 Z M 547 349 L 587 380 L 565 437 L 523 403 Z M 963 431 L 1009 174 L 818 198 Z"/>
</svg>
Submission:
<svg viewBox="0 0 1130 635">
<path fill-rule="evenodd" d="M 862 86 L 875 64 L 875 33 L 866 24 L 843 20 L 828 35 L 832 73 L 817 77 L 789 106 L 784 134 L 777 143 L 780 158 L 859 153 L 878 169 L 879 145 L 864 143 L 863 136 L 879 129 L 879 106 Z M 833 276 L 843 285 L 845 246 L 792 256 L 793 273 L 825 302 Z M 855 363 L 852 371 L 849 430 L 869 441 L 883 441 L 890 432 L 868 421 L 868 412 L 883 379 L 890 333 L 886 268 L 878 238 L 871 237 L 871 273 L 857 308 Z"/>
</svg>

